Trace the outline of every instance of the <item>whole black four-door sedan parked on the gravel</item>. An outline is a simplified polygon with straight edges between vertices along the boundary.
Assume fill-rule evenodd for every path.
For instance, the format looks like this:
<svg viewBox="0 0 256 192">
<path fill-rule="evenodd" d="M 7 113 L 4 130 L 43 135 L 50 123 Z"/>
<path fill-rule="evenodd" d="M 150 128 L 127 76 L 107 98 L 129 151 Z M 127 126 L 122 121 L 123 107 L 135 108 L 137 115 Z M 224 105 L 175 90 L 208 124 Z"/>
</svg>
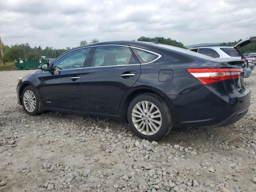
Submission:
<svg viewBox="0 0 256 192">
<path fill-rule="evenodd" d="M 158 43 L 116 41 L 80 46 L 18 79 L 18 104 L 128 121 L 158 140 L 173 126 L 226 126 L 250 106 L 245 60 L 216 59 Z"/>
</svg>

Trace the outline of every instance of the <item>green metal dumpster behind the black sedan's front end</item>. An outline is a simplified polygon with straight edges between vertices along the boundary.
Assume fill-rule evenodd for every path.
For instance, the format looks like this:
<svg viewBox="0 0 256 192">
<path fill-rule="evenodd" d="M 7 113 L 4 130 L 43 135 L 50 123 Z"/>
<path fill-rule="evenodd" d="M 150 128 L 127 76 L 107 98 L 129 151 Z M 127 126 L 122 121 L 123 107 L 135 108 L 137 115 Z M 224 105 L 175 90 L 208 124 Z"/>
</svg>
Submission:
<svg viewBox="0 0 256 192">
<path fill-rule="evenodd" d="M 17 59 L 15 60 L 16 70 L 38 69 L 43 63 L 49 63 L 48 59 Z"/>
</svg>

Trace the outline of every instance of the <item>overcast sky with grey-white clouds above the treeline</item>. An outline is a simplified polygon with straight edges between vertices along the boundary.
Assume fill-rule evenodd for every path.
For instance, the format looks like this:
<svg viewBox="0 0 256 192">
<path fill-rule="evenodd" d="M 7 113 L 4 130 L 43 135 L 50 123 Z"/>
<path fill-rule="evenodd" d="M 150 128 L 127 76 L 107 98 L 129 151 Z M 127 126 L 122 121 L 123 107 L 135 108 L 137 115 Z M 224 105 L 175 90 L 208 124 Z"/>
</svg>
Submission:
<svg viewBox="0 0 256 192">
<path fill-rule="evenodd" d="M 140 36 L 191 45 L 256 35 L 255 0 L 0 0 L 0 9 L 9 46 L 72 48 Z"/>
</svg>

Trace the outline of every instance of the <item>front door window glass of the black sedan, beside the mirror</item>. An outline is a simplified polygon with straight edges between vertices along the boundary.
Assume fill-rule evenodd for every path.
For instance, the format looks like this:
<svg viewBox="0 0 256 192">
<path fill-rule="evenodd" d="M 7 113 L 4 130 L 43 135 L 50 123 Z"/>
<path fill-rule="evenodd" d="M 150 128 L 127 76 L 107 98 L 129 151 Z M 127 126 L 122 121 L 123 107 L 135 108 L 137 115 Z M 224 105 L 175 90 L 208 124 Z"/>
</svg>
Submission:
<svg viewBox="0 0 256 192">
<path fill-rule="evenodd" d="M 54 62 L 52 70 L 65 70 L 65 69 L 76 69 L 82 68 L 84 61 L 89 56 L 91 48 L 83 48 L 74 50 L 64 55 L 62 58 Z"/>
</svg>

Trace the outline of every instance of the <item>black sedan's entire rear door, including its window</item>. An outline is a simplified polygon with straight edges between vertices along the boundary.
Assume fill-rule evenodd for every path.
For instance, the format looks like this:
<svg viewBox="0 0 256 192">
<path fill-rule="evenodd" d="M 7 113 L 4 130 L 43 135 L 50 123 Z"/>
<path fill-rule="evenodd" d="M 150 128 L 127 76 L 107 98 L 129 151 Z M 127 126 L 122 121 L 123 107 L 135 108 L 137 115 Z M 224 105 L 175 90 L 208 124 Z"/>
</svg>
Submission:
<svg viewBox="0 0 256 192">
<path fill-rule="evenodd" d="M 86 112 L 117 114 L 124 93 L 140 76 L 140 64 L 128 46 L 97 46 L 81 76 Z"/>
</svg>

